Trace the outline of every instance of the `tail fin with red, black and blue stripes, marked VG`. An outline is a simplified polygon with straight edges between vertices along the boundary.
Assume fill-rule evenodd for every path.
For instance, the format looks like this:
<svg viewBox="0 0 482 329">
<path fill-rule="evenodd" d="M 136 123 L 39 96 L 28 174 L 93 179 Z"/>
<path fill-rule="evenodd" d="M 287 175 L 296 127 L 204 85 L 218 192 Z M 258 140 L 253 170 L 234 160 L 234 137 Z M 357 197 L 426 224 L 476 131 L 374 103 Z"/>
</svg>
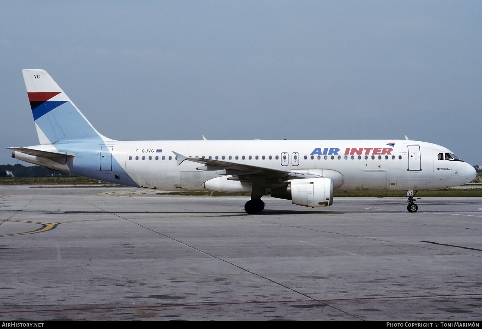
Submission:
<svg viewBox="0 0 482 329">
<path fill-rule="evenodd" d="M 44 70 L 22 70 L 40 144 L 111 141 L 99 134 Z"/>
</svg>

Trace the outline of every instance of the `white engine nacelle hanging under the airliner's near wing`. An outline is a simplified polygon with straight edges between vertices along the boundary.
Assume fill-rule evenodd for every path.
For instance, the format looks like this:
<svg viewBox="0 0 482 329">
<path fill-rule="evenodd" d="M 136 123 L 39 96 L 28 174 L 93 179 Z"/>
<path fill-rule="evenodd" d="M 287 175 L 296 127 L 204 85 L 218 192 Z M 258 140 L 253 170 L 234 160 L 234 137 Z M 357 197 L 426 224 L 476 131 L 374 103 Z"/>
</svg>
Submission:
<svg viewBox="0 0 482 329">
<path fill-rule="evenodd" d="M 333 204 L 333 180 L 303 178 L 291 181 L 291 202 L 306 207 L 327 207 Z"/>
</svg>

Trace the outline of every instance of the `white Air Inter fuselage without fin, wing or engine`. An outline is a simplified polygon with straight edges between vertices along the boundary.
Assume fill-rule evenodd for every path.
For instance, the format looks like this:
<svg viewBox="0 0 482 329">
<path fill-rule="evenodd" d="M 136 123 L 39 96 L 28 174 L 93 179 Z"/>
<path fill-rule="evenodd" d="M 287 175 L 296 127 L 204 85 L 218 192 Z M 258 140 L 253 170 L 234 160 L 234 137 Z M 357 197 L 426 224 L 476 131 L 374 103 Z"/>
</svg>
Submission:
<svg viewBox="0 0 482 329">
<path fill-rule="evenodd" d="M 475 177 L 473 167 L 463 161 L 438 160 L 437 154 L 452 153 L 442 146 L 412 140 L 389 143 L 394 146 L 386 140 L 112 141 L 102 145 L 60 144 L 49 150 L 75 155 L 71 163 L 51 166 L 54 169 L 159 190 L 204 190 L 203 182 L 219 177 L 215 170 L 198 170 L 201 164 L 195 162 L 176 165 L 172 151 L 192 158 L 217 157 L 230 163 L 321 174 L 335 179 L 335 190 L 433 190 L 466 184 Z M 106 146 L 110 147 L 112 163 L 119 165 L 101 168 L 101 148 Z M 409 154 L 410 146 L 415 151 L 419 148 L 419 153 Z M 39 164 L 39 158 L 19 152 L 15 157 Z M 126 184 L 123 176 L 135 184 Z"/>
</svg>

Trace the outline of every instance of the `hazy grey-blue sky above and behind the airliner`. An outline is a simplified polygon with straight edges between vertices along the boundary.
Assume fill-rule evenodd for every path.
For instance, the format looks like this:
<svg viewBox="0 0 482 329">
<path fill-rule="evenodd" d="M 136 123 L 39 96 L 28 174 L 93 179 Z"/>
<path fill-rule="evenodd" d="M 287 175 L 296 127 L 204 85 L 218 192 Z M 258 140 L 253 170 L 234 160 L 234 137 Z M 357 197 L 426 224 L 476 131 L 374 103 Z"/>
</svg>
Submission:
<svg viewBox="0 0 482 329">
<path fill-rule="evenodd" d="M 481 17 L 480 1 L 2 1 L 0 164 L 38 144 L 21 69 L 41 68 L 113 139 L 407 134 L 482 165 Z"/>
</svg>

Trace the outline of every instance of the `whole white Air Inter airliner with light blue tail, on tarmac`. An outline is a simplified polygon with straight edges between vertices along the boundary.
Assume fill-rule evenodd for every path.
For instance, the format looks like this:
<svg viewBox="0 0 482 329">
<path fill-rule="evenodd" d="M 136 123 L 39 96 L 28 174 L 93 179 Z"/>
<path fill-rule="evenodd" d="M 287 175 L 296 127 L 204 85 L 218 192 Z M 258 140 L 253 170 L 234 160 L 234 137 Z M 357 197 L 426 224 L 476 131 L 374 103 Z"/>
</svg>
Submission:
<svg viewBox="0 0 482 329">
<path fill-rule="evenodd" d="M 307 207 L 333 204 L 334 190 L 407 191 L 469 183 L 475 169 L 454 152 L 415 140 L 141 140 L 101 135 L 44 70 L 23 70 L 40 145 L 13 158 L 83 177 L 159 190 L 251 193 Z"/>
</svg>

